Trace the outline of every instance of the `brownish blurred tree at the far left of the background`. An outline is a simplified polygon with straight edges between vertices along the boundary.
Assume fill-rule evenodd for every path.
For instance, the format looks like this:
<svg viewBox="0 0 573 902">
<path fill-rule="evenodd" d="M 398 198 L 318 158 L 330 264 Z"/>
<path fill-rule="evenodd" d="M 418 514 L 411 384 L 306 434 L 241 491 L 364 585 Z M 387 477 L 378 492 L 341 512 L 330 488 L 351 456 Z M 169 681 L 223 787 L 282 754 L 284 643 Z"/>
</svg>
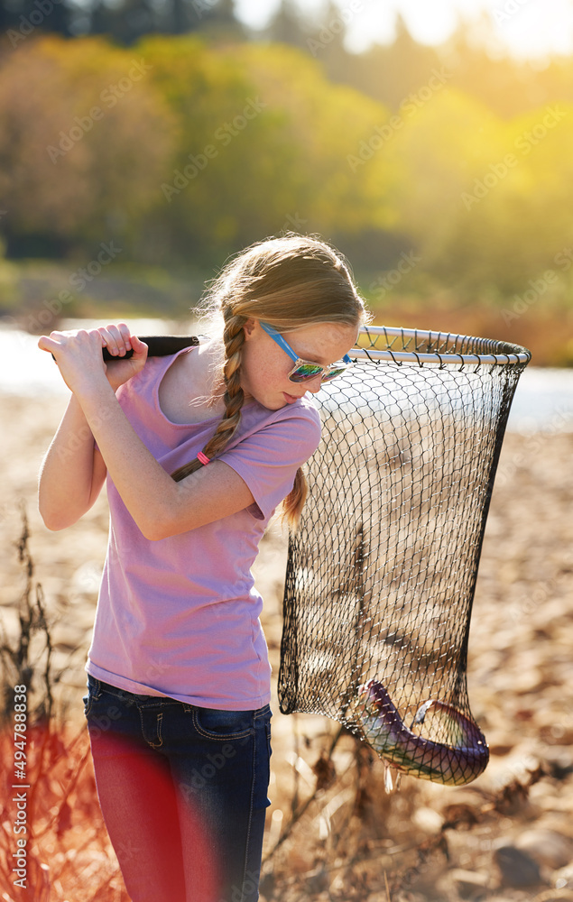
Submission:
<svg viewBox="0 0 573 902">
<path fill-rule="evenodd" d="M 91 38 L 29 39 L 0 67 L 0 225 L 85 253 L 124 249 L 156 198 L 173 122 L 141 57 Z M 25 253 L 25 252 L 24 252 Z"/>
</svg>

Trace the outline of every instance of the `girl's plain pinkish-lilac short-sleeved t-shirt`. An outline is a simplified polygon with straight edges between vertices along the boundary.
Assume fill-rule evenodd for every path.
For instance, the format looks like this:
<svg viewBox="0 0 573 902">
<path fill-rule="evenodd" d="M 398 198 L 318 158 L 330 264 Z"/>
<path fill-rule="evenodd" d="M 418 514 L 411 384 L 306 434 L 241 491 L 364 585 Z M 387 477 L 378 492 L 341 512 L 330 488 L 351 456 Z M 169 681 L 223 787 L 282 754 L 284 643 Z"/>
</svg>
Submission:
<svg viewBox="0 0 573 902">
<path fill-rule="evenodd" d="M 125 416 L 168 473 L 197 456 L 219 419 L 178 425 L 162 413 L 159 385 L 179 354 L 150 358 L 117 391 Z M 89 674 L 129 692 L 202 707 L 249 710 L 269 703 L 263 599 L 251 567 L 273 511 L 319 439 L 319 413 L 310 401 L 281 410 L 247 402 L 219 459 L 245 480 L 255 503 L 159 541 L 143 537 L 107 476 L 109 544 Z"/>
</svg>

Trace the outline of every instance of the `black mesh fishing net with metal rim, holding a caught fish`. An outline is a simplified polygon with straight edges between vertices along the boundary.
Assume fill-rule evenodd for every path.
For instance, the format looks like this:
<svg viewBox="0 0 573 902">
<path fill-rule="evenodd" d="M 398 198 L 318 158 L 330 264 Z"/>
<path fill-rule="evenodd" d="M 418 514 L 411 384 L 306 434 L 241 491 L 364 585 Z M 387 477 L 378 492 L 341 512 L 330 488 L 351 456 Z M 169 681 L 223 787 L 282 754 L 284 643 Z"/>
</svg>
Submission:
<svg viewBox="0 0 573 902">
<path fill-rule="evenodd" d="M 316 400 L 322 441 L 291 534 L 282 713 L 319 713 L 398 770 L 463 784 L 485 769 L 467 697 L 477 566 L 517 345 L 364 329 Z"/>
</svg>

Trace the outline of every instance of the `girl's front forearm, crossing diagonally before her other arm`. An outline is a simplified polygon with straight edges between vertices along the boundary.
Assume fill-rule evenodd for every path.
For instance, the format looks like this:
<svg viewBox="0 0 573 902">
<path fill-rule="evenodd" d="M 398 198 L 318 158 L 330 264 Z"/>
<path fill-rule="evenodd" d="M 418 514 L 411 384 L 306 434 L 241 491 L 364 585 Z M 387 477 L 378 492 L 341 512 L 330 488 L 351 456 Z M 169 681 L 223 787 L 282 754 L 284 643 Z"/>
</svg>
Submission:
<svg viewBox="0 0 573 902">
<path fill-rule="evenodd" d="M 125 507 L 145 538 L 156 538 L 180 501 L 180 484 L 143 445 L 107 382 L 82 394 L 80 403 Z"/>
</svg>

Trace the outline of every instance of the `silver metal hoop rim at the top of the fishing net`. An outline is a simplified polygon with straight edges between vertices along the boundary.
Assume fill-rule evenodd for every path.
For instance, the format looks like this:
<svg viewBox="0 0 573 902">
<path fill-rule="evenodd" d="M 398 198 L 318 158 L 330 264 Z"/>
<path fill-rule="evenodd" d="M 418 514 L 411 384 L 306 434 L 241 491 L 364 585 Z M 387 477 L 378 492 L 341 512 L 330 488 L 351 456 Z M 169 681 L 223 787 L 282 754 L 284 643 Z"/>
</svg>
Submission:
<svg viewBox="0 0 573 902">
<path fill-rule="evenodd" d="M 486 338 L 476 338 L 473 336 L 453 335 L 449 332 L 431 332 L 424 329 L 406 329 L 387 326 L 362 326 L 360 327 L 360 336 L 384 336 L 386 344 L 389 345 L 386 350 L 379 350 L 372 347 L 353 347 L 350 352 L 351 356 L 356 360 L 374 360 L 374 361 L 392 361 L 393 363 L 411 363 L 411 364 L 494 364 L 496 366 L 507 366 L 511 364 L 528 364 L 531 360 L 531 352 L 521 345 L 511 345 L 506 342 L 493 341 Z M 358 342 L 360 342 L 360 336 Z M 393 350 L 392 343 L 389 338 L 402 338 L 402 347 L 404 345 L 414 343 L 415 351 Z M 500 354 L 463 354 L 454 350 L 455 345 L 467 345 L 468 342 L 476 345 L 477 348 L 487 347 L 488 345 L 496 345 Z M 374 342 L 375 343 L 375 337 Z M 418 347 L 428 345 L 453 345 L 452 350 L 439 351 L 420 351 Z"/>
</svg>

